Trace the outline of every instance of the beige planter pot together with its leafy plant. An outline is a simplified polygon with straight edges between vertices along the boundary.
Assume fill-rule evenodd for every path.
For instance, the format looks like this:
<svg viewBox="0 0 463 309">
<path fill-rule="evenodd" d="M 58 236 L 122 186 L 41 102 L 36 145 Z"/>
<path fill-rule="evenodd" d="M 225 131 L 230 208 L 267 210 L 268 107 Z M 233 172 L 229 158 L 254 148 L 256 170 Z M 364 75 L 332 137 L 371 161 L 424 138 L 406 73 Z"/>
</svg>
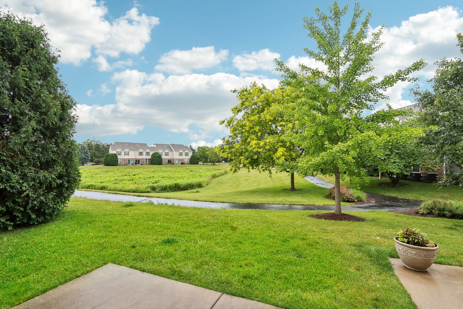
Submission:
<svg viewBox="0 0 463 309">
<path fill-rule="evenodd" d="M 439 246 L 417 228 L 402 227 L 394 241 L 395 250 L 407 268 L 426 271 L 436 259 Z"/>
</svg>

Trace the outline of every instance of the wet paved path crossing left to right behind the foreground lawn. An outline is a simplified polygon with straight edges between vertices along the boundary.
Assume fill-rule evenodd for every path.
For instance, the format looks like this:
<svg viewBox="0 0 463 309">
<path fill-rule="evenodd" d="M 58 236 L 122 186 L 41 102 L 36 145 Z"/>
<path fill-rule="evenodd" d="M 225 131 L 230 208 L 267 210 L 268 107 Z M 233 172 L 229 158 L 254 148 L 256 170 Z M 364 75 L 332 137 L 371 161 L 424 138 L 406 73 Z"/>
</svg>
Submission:
<svg viewBox="0 0 463 309">
<path fill-rule="evenodd" d="M 266 209 L 266 210 L 328 210 L 334 211 L 334 205 L 283 205 L 283 204 L 250 204 L 250 203 L 220 203 L 220 202 L 202 202 L 177 200 L 159 197 L 143 197 L 135 195 L 124 195 L 114 193 L 104 193 L 97 191 L 75 190 L 76 197 L 86 197 L 94 200 L 108 200 L 114 202 L 148 202 L 168 203 L 169 205 L 181 205 L 187 207 L 215 208 L 215 209 Z M 380 195 L 382 196 L 382 195 Z M 365 205 L 345 205 L 342 206 L 344 211 L 365 211 L 365 210 L 398 210 L 405 209 L 408 206 L 400 204 L 365 204 Z"/>
</svg>

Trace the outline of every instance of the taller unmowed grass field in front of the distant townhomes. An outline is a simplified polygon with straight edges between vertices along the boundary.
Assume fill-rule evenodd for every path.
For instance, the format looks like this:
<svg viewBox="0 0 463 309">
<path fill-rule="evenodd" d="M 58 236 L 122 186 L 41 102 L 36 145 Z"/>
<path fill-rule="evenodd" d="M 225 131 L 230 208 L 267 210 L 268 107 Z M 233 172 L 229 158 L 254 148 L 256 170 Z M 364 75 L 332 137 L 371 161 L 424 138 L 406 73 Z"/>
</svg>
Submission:
<svg viewBox="0 0 463 309">
<path fill-rule="evenodd" d="M 80 171 L 80 189 L 137 193 L 202 188 L 226 174 L 219 165 L 92 165 Z"/>
</svg>

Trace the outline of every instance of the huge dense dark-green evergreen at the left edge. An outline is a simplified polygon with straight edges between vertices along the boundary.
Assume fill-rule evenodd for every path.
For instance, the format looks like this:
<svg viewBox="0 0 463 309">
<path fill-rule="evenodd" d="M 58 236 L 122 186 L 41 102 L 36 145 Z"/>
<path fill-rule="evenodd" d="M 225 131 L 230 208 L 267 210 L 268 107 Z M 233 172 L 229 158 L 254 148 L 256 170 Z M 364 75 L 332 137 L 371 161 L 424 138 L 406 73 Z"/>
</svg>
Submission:
<svg viewBox="0 0 463 309">
<path fill-rule="evenodd" d="M 0 228 L 59 213 L 80 181 L 75 101 L 44 26 L 0 12 Z"/>
</svg>

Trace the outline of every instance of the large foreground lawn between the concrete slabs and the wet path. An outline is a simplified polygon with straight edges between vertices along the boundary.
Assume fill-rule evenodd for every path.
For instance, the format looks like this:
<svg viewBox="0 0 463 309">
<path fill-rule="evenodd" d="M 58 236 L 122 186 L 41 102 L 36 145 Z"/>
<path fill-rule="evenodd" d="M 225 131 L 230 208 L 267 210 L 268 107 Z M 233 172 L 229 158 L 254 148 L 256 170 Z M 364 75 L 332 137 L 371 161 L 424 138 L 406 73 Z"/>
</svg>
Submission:
<svg viewBox="0 0 463 309">
<path fill-rule="evenodd" d="M 111 262 L 282 308 L 415 309 L 388 260 L 402 226 L 439 244 L 436 263 L 463 266 L 463 221 L 317 213 L 72 198 L 49 223 L 0 232 L 0 308 Z"/>
</svg>

